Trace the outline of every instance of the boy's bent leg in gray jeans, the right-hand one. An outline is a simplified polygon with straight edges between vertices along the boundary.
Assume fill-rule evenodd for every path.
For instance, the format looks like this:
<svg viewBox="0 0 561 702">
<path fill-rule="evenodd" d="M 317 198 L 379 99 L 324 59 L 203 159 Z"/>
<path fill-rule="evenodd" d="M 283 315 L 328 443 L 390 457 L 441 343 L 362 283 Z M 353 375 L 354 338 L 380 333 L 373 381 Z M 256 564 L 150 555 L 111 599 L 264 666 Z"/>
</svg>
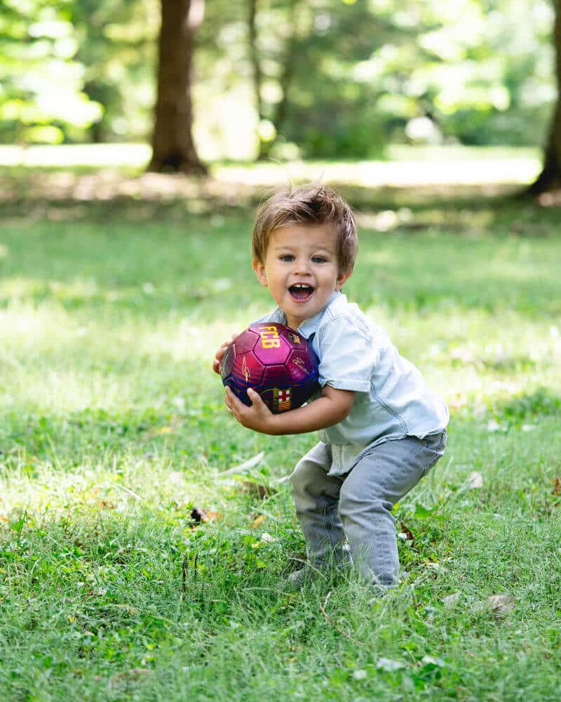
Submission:
<svg viewBox="0 0 561 702">
<path fill-rule="evenodd" d="M 445 446 L 446 432 L 388 441 L 375 446 L 346 476 L 339 515 L 353 562 L 370 583 L 396 583 L 399 560 L 391 510 L 438 461 Z"/>
</svg>

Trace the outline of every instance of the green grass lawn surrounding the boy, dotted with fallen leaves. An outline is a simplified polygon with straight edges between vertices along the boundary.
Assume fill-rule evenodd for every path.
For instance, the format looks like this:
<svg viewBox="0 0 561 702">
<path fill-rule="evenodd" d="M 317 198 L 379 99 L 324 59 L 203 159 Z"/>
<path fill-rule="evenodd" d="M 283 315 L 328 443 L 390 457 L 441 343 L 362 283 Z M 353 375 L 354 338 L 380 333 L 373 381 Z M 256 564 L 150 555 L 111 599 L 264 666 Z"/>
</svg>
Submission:
<svg viewBox="0 0 561 702">
<path fill-rule="evenodd" d="M 235 425 L 210 372 L 270 306 L 250 210 L 4 203 L 2 698 L 557 698 L 558 213 L 342 189 L 362 222 L 346 293 L 452 409 L 396 508 L 407 579 L 383 600 L 353 574 L 283 586 L 304 541 L 281 478 L 314 437 Z"/>
</svg>

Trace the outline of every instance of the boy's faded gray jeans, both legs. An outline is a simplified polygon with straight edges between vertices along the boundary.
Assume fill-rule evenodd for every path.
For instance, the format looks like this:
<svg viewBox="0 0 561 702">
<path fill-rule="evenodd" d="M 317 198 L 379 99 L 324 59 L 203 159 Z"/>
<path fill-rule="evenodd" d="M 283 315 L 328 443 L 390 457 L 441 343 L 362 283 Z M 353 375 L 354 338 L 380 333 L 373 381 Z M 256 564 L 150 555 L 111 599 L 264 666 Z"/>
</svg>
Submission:
<svg viewBox="0 0 561 702">
<path fill-rule="evenodd" d="M 327 475 L 329 444 L 320 442 L 306 453 L 290 480 L 311 565 L 321 569 L 348 560 L 350 548 L 366 581 L 396 583 L 399 559 L 391 510 L 435 465 L 445 446 L 446 431 L 388 441 L 367 451 L 351 472 L 336 476 Z"/>
</svg>

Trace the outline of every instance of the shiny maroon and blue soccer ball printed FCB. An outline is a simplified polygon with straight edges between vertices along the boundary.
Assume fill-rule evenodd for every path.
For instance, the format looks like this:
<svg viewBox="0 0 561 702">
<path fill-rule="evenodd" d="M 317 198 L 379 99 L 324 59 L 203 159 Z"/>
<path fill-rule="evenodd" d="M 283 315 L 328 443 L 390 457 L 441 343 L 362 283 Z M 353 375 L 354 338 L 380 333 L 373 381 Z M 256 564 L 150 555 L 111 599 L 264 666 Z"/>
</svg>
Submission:
<svg viewBox="0 0 561 702">
<path fill-rule="evenodd" d="M 271 412 L 302 406 L 318 389 L 318 359 L 311 344 L 290 326 L 253 324 L 227 347 L 222 383 L 250 405 L 248 388 L 259 392 Z"/>
</svg>

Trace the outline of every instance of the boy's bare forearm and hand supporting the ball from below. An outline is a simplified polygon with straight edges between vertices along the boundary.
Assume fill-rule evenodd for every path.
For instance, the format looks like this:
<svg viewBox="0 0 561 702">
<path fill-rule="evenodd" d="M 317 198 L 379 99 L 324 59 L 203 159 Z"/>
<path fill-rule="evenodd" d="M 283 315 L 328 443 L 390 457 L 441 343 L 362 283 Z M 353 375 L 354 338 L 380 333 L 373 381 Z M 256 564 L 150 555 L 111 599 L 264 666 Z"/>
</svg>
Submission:
<svg viewBox="0 0 561 702">
<path fill-rule="evenodd" d="M 262 434 L 305 434 L 338 424 L 353 407 L 355 394 L 324 385 L 321 397 L 290 412 L 273 414 L 255 390 L 248 390 L 252 405 L 243 404 L 226 388 L 226 404 L 238 422 Z"/>
</svg>

